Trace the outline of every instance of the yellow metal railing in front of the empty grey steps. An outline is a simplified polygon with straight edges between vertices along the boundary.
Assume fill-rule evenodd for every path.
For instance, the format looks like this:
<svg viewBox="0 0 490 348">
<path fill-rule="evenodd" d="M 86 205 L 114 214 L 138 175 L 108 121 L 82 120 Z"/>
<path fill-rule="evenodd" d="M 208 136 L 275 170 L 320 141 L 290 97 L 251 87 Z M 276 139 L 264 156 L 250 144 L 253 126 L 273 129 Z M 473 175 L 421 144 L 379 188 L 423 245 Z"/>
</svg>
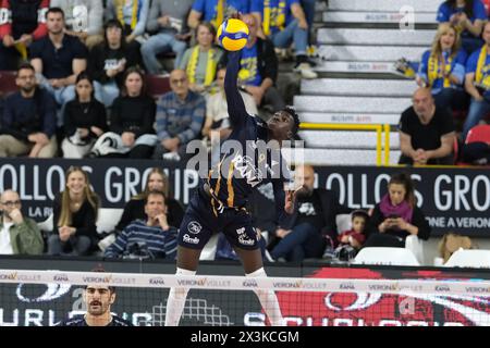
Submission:
<svg viewBox="0 0 490 348">
<path fill-rule="evenodd" d="M 376 130 L 376 165 L 390 164 L 390 125 L 389 124 L 339 124 L 339 123 L 301 123 L 301 129 L 334 130 Z M 382 160 L 384 133 L 384 163 Z"/>
</svg>

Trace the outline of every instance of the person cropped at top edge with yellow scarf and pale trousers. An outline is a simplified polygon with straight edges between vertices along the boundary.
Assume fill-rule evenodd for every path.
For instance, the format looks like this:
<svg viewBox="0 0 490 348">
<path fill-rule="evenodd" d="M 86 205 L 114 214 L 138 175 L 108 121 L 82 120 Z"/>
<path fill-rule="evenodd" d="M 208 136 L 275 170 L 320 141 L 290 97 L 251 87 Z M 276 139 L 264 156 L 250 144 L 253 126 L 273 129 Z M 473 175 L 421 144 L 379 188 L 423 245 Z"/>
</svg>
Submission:
<svg viewBox="0 0 490 348">
<path fill-rule="evenodd" d="M 142 40 L 145 34 L 150 0 L 108 0 L 106 20 L 118 20 L 124 27 L 127 42 Z"/>
</svg>

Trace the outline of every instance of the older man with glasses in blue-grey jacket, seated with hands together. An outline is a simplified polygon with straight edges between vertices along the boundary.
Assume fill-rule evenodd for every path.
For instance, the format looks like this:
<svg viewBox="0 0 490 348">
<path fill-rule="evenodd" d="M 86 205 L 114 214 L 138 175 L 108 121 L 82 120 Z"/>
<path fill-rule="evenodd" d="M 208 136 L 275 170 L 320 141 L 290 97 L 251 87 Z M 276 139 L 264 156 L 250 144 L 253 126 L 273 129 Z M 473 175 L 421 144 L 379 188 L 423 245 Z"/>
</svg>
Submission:
<svg viewBox="0 0 490 348">
<path fill-rule="evenodd" d="M 156 160 L 184 158 L 187 144 L 200 135 L 205 117 L 205 99 L 189 90 L 184 71 L 170 74 L 170 87 L 157 102 Z"/>
</svg>

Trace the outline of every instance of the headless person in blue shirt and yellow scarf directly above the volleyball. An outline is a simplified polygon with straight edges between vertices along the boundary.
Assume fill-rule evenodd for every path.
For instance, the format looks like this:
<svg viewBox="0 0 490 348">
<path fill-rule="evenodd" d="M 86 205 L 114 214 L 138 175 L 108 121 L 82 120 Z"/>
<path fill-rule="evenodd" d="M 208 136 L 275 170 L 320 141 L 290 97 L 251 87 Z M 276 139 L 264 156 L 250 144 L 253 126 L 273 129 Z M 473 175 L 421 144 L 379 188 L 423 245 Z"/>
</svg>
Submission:
<svg viewBox="0 0 490 348">
<path fill-rule="evenodd" d="M 236 12 L 248 13 L 248 0 L 195 0 L 187 24 L 191 28 L 197 28 L 200 22 L 209 22 L 215 29 L 231 14 Z"/>
</svg>

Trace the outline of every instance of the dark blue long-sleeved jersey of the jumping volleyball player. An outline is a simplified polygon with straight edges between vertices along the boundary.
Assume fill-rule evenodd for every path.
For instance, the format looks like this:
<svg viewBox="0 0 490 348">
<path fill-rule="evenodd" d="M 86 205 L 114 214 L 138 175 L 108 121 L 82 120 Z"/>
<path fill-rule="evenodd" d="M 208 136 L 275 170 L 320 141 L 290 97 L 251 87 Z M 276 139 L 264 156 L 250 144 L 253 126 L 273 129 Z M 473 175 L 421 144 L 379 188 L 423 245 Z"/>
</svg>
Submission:
<svg viewBox="0 0 490 348">
<path fill-rule="evenodd" d="M 284 213 L 284 182 L 291 179 L 286 162 L 279 148 L 266 147 L 267 125 L 246 112 L 236 80 L 241 52 L 230 52 L 224 78 L 228 113 L 232 134 L 222 145 L 224 153 L 209 173 L 207 184 L 219 203 L 243 208 L 254 187 L 271 182 L 274 188 L 278 216 Z"/>
</svg>

